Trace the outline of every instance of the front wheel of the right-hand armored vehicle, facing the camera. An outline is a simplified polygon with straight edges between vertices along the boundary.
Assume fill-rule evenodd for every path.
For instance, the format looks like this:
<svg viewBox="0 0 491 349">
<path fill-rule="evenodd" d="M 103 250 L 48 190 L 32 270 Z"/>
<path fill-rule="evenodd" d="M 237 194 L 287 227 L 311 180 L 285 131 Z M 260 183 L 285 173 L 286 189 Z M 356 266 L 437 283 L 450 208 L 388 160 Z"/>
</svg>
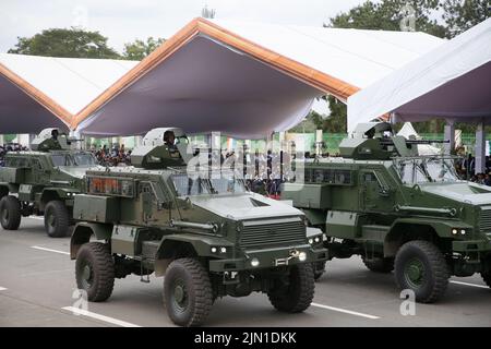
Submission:
<svg viewBox="0 0 491 349">
<path fill-rule="evenodd" d="M 409 241 L 397 252 L 395 276 L 400 289 L 415 291 L 421 303 L 438 301 L 448 285 L 448 267 L 442 252 L 429 241 Z"/>
</svg>

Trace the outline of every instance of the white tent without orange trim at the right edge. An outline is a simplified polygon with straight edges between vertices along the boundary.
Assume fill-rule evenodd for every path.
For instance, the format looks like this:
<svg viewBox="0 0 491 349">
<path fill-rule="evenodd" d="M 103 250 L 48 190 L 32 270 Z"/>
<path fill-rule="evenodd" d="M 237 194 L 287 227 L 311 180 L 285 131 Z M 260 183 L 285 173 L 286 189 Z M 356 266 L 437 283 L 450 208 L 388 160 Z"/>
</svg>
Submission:
<svg viewBox="0 0 491 349">
<path fill-rule="evenodd" d="M 477 123 L 476 172 L 484 169 L 484 125 L 491 124 L 491 19 L 348 98 L 348 129 L 390 113 L 393 122 L 447 120 Z"/>
</svg>

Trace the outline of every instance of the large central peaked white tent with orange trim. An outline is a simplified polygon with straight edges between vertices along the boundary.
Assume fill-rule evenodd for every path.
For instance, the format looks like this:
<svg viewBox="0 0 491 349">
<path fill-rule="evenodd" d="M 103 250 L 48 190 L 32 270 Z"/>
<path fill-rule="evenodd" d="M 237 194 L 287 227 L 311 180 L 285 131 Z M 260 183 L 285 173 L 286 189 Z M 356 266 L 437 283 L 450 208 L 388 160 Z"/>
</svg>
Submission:
<svg viewBox="0 0 491 349">
<path fill-rule="evenodd" d="M 441 45 L 421 33 L 196 19 L 74 119 L 80 132 L 161 125 L 264 139 L 301 121 L 315 97 L 342 100 Z"/>
</svg>

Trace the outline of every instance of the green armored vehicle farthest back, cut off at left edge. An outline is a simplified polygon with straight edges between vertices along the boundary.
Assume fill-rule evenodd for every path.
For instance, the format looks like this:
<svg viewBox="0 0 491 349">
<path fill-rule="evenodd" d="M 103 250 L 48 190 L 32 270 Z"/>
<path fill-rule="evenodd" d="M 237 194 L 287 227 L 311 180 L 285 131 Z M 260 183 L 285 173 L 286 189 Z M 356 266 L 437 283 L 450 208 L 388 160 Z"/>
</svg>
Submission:
<svg viewBox="0 0 491 349">
<path fill-rule="evenodd" d="M 10 152 L 0 168 L 0 222 L 16 230 L 22 216 L 44 215 L 48 236 L 63 237 L 71 224 L 73 195 L 82 192 L 85 170 L 96 166 L 88 152 L 70 148 L 58 129 L 46 129 L 32 151 Z"/>
</svg>

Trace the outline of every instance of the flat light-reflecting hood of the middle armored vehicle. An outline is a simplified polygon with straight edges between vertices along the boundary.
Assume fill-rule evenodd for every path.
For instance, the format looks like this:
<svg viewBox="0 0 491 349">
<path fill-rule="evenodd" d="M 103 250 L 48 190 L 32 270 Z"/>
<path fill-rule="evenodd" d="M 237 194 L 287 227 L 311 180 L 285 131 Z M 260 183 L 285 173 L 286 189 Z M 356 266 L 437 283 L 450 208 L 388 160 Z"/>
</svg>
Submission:
<svg viewBox="0 0 491 349">
<path fill-rule="evenodd" d="M 260 194 L 189 196 L 193 205 L 233 220 L 302 216 L 303 213 L 286 203 Z"/>
</svg>

